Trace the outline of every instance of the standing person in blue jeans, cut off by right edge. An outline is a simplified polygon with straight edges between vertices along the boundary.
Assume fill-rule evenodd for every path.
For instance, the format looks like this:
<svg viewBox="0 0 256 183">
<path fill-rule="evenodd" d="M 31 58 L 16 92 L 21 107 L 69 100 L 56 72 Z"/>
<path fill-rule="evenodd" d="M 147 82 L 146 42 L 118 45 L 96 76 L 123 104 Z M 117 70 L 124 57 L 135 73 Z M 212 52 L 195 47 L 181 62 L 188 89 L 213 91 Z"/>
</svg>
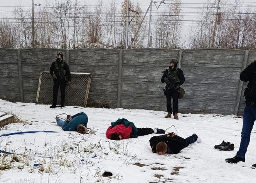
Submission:
<svg viewBox="0 0 256 183">
<path fill-rule="evenodd" d="M 246 89 L 244 89 L 245 103 L 243 114 L 243 128 L 241 135 L 241 142 L 236 156 L 227 158 L 227 163 L 245 162 L 245 154 L 250 142 L 251 130 L 253 129 L 254 121 L 256 120 L 256 57 L 254 62 L 244 69 L 240 74 L 241 81 L 249 81 Z M 256 164 L 252 165 L 256 168 Z"/>
</svg>

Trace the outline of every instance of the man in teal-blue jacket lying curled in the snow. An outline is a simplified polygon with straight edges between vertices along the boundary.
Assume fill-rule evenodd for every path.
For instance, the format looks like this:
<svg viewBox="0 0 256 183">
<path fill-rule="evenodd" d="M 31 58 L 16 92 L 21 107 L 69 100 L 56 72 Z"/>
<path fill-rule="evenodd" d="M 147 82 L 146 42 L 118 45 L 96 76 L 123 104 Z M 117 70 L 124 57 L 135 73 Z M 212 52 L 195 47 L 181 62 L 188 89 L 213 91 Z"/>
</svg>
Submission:
<svg viewBox="0 0 256 183">
<path fill-rule="evenodd" d="M 84 112 L 79 112 L 74 116 L 67 115 L 65 121 L 57 117 L 56 121 L 64 131 L 77 131 L 82 134 L 87 131 L 88 116 Z"/>
</svg>

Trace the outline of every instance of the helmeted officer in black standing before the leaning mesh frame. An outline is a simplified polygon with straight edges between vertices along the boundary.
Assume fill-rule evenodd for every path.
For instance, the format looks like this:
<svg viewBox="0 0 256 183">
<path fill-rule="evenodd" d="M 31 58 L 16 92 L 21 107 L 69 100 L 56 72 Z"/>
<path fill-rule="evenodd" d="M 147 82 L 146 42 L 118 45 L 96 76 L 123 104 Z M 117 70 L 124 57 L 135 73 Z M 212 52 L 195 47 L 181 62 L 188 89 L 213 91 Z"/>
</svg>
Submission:
<svg viewBox="0 0 256 183">
<path fill-rule="evenodd" d="M 62 52 L 57 52 L 56 60 L 52 62 L 50 68 L 50 74 L 53 79 L 53 97 L 50 108 L 56 108 L 59 87 L 61 87 L 61 107 L 64 107 L 66 86 L 71 84 L 71 74 L 69 66 L 63 60 Z"/>
</svg>

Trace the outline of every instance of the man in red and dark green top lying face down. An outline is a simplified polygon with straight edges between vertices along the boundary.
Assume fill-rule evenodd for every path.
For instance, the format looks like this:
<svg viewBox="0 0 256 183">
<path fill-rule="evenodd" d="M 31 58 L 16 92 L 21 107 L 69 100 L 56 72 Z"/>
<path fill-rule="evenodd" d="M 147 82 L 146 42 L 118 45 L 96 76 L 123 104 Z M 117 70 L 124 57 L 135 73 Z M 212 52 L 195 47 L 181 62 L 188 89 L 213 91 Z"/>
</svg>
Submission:
<svg viewBox="0 0 256 183">
<path fill-rule="evenodd" d="M 111 126 L 109 126 L 106 131 L 106 136 L 108 139 L 111 140 L 122 140 L 128 138 L 137 138 L 138 136 L 148 135 L 152 133 L 164 134 L 165 131 L 158 128 L 136 128 L 136 126 L 132 122 L 123 118 L 111 123 Z"/>
</svg>

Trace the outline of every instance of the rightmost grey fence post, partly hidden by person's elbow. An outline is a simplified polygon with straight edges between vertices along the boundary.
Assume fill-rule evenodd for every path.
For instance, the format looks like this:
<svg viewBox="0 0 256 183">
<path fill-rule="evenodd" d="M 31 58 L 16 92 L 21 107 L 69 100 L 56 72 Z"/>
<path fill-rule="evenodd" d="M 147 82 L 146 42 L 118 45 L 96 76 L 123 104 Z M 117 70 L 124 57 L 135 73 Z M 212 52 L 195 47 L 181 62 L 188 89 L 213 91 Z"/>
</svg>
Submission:
<svg viewBox="0 0 256 183">
<path fill-rule="evenodd" d="M 249 55 L 249 50 L 245 50 L 243 65 L 242 65 L 242 70 L 241 71 L 243 71 L 246 68 L 248 55 Z M 240 100 L 241 100 L 242 89 L 243 89 L 243 81 L 239 80 L 239 85 L 238 85 L 237 94 L 236 94 L 236 103 L 235 103 L 235 108 L 234 108 L 234 115 L 237 115 L 237 113 L 238 113 L 239 104 L 240 104 Z"/>
</svg>

